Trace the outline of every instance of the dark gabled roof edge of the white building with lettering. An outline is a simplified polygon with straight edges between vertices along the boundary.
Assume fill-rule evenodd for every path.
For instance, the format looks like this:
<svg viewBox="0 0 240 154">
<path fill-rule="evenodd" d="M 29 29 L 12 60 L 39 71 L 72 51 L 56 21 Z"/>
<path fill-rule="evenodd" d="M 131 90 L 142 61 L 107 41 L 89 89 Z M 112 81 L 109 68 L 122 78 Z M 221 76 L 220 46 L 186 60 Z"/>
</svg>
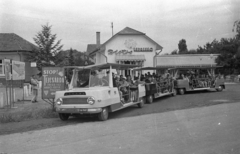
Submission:
<svg viewBox="0 0 240 154">
<path fill-rule="evenodd" d="M 97 48 L 97 45 L 96 44 L 89 44 L 87 46 L 87 54 L 93 54 L 95 52 L 97 52 L 99 49 L 105 49 L 105 45 L 111 41 L 113 38 L 119 36 L 119 35 L 142 35 L 143 37 L 145 37 L 146 39 L 148 39 L 149 41 L 155 43 L 157 45 L 156 47 L 156 50 L 162 50 L 162 46 L 160 46 L 157 42 L 155 42 L 154 40 L 152 40 L 151 38 L 149 38 L 145 33 L 142 33 L 142 32 L 139 32 L 135 29 L 132 29 L 132 28 L 129 28 L 129 27 L 126 27 L 124 28 L 123 30 L 121 30 L 120 32 L 116 33 L 114 36 L 112 36 L 109 40 L 107 40 L 104 44 L 101 44 L 100 45 L 100 48 Z M 95 46 L 95 49 L 93 50 L 90 50 L 92 49 L 92 47 L 94 48 Z M 88 50 L 89 49 L 89 50 Z"/>
</svg>

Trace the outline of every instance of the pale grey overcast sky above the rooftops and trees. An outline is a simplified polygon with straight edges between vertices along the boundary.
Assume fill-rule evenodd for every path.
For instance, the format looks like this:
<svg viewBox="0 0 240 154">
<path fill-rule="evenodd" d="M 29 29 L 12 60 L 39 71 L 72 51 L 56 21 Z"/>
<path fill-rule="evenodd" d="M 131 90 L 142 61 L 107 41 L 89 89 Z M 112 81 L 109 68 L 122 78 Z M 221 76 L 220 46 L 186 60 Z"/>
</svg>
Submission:
<svg viewBox="0 0 240 154">
<path fill-rule="evenodd" d="M 42 25 L 52 26 L 63 50 L 86 51 L 104 43 L 125 27 L 145 33 L 163 47 L 178 49 L 185 39 L 188 49 L 197 49 L 214 39 L 235 35 L 233 23 L 240 20 L 239 0 L 0 0 L 0 33 L 15 33 L 29 42 Z"/>
</svg>

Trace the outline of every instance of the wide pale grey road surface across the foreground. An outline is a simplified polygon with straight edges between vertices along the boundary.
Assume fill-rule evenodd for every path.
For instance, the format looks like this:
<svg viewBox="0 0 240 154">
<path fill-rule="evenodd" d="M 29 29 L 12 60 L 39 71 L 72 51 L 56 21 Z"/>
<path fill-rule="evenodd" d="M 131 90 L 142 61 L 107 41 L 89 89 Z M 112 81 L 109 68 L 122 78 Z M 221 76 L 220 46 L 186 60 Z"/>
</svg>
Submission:
<svg viewBox="0 0 240 154">
<path fill-rule="evenodd" d="M 0 136 L 0 153 L 240 153 L 240 103 Z"/>
</svg>

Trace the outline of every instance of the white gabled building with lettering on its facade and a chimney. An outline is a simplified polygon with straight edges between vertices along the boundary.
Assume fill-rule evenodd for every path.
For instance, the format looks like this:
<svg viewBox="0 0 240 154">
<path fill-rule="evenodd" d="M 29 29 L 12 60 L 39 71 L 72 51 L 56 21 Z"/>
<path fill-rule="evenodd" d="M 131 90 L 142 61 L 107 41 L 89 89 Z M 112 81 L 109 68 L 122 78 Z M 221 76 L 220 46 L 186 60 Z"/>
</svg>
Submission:
<svg viewBox="0 0 240 154">
<path fill-rule="evenodd" d="M 96 44 L 89 44 L 87 53 L 95 64 L 120 63 L 140 64 L 144 67 L 155 66 L 153 57 L 163 49 L 145 33 L 126 27 L 105 43 L 100 44 L 97 32 Z"/>
</svg>

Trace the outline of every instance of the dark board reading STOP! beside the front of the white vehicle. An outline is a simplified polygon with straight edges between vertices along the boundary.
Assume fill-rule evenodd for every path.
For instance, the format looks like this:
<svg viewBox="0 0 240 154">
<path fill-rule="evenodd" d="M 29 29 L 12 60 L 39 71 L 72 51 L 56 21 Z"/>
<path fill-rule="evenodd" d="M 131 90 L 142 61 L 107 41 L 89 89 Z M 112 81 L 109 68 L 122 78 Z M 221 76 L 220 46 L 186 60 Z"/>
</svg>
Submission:
<svg viewBox="0 0 240 154">
<path fill-rule="evenodd" d="M 54 107 L 55 92 L 65 88 L 64 68 L 42 68 L 42 99 Z"/>
</svg>

